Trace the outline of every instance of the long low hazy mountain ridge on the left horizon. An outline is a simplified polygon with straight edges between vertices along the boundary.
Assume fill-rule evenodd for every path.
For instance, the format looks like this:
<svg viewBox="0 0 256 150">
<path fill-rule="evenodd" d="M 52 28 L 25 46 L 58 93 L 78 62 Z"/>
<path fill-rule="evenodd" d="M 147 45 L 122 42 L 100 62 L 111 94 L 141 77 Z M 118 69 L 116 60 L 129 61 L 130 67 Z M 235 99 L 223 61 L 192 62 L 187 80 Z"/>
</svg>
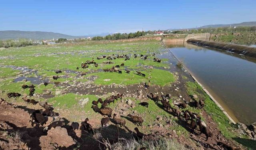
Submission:
<svg viewBox="0 0 256 150">
<path fill-rule="evenodd" d="M 94 37 L 94 36 L 106 36 L 111 33 L 102 33 L 102 34 L 92 34 L 86 36 L 70 36 L 61 33 L 54 32 L 42 32 L 42 31 L 17 31 L 17 30 L 8 30 L 8 31 L 0 31 L 0 40 L 7 39 L 19 39 L 19 38 L 27 38 L 33 40 L 43 40 L 43 39 L 57 39 L 57 38 L 86 38 L 86 37 Z"/>
</svg>

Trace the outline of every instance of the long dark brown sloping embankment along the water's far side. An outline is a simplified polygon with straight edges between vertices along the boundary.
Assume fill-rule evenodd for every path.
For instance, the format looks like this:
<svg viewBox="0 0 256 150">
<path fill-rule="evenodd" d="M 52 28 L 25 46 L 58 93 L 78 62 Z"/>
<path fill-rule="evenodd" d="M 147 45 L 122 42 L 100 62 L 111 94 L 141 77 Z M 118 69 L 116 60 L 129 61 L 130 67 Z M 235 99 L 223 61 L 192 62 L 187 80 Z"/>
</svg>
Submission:
<svg viewBox="0 0 256 150">
<path fill-rule="evenodd" d="M 210 48 L 216 48 L 219 50 L 225 50 L 228 52 L 234 52 L 237 54 L 242 54 L 245 56 L 250 56 L 256 58 L 256 48 L 244 45 L 237 44 L 228 44 L 228 43 L 220 43 L 220 42 L 211 42 L 205 40 L 197 40 L 197 39 L 189 39 L 187 42 L 192 44 L 197 44 L 199 46 L 207 46 Z"/>
</svg>

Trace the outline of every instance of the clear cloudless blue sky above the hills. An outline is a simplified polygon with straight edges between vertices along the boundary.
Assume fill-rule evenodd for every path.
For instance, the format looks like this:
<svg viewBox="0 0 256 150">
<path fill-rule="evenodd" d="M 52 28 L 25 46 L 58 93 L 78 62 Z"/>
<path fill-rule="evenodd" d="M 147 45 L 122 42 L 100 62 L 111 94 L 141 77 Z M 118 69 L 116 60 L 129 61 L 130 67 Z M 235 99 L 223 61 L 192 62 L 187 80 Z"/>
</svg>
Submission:
<svg viewBox="0 0 256 150">
<path fill-rule="evenodd" d="M 256 21 L 256 0 L 0 0 L 0 30 L 69 35 Z"/>
</svg>

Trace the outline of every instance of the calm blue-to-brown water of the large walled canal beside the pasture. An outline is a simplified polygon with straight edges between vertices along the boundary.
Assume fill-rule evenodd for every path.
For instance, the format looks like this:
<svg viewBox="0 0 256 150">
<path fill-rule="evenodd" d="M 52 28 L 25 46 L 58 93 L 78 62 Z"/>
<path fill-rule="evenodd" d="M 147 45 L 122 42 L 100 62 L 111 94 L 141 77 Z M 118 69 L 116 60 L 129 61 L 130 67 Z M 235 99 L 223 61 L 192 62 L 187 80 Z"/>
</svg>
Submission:
<svg viewBox="0 0 256 150">
<path fill-rule="evenodd" d="M 256 122 L 256 58 L 188 43 L 165 44 L 233 120 Z"/>
</svg>

